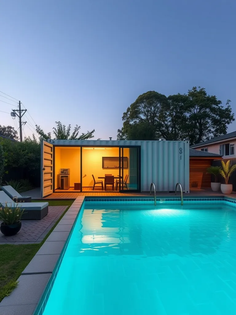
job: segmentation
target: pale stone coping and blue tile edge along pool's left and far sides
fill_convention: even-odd
[[[180,200],[179,196],[158,196],[160,201],[175,201]],[[185,201],[228,201],[236,203],[235,197],[228,196],[193,196],[185,197]],[[64,252],[73,231],[74,222],[80,212],[84,201],[153,201],[153,196],[140,198],[140,196],[127,198],[126,197],[77,197],[74,203],[70,206],[66,214],[59,221],[53,232],[48,236],[36,255],[30,261],[28,266],[23,270],[18,278],[18,286],[12,291],[9,296],[4,297],[0,303],[1,315],[42,315],[51,288],[59,270],[60,262],[62,261]]]

